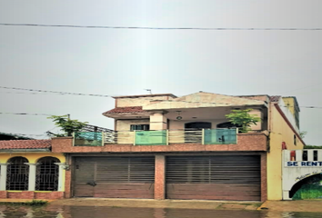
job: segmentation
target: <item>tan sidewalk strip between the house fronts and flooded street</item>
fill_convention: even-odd
[[[0,199],[0,203],[23,203],[31,199]],[[251,210],[269,212],[320,212],[322,199],[300,201],[226,202],[204,200],[153,200],[116,198],[71,198],[48,200],[50,205],[107,206],[107,207],[145,207],[207,210]]]

